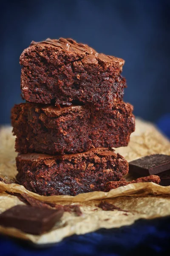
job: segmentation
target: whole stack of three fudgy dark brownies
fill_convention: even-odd
[[[133,107],[122,101],[124,61],[68,38],[32,42],[20,56],[26,103],[12,109],[17,180],[40,195],[105,191],[128,172]]]

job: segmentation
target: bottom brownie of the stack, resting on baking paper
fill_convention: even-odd
[[[120,180],[128,172],[127,161],[108,148],[63,156],[19,154],[16,163],[18,182],[40,195],[102,191],[107,182]]]

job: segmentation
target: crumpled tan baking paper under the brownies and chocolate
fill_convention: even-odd
[[[85,234],[100,228],[122,227],[133,224],[140,218],[157,218],[170,215],[170,186],[160,186],[152,182],[132,183],[110,192],[90,192],[75,197],[68,195],[41,196],[26,190],[15,182],[17,173],[14,151],[15,137],[11,127],[0,129],[0,212],[17,204],[25,204],[16,195],[7,192],[26,193],[32,198],[52,204],[78,204],[81,216],[74,212],[64,212],[61,220],[48,233],[35,236],[23,233],[15,228],[0,226],[0,233],[35,244],[51,244],[59,242],[73,234]],[[127,161],[132,161],[148,154],[169,154],[170,142],[152,124],[136,119],[136,131],[131,135],[127,147],[116,148]],[[127,180],[133,177],[126,175]],[[120,209],[104,211],[98,207],[104,200]]]

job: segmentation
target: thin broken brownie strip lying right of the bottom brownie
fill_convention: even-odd
[[[116,189],[119,186],[126,186],[126,185],[131,184],[131,183],[154,182],[156,184],[159,184],[160,181],[161,180],[160,180],[159,176],[157,176],[157,175],[150,175],[150,176],[147,176],[147,177],[140,177],[137,180],[132,180],[132,181],[126,181],[125,179],[121,179],[121,180],[118,180],[118,181],[109,181],[109,182],[106,183],[105,192],[108,192],[111,189]]]

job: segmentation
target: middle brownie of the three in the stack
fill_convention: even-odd
[[[79,153],[97,147],[127,146],[135,128],[132,106],[115,102],[111,110],[92,106],[22,103],[12,109],[15,148],[19,153]]]

